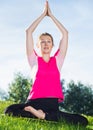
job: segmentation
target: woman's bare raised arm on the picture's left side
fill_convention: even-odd
[[[32,34],[36,29],[36,27],[38,26],[38,24],[41,22],[41,20],[46,16],[46,14],[47,14],[47,3],[45,5],[44,12],[26,30],[26,52],[28,56],[30,56],[34,50],[34,41]]]

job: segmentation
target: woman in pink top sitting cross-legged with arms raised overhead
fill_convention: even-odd
[[[49,33],[43,33],[38,40],[38,47],[42,56],[34,50],[33,32],[45,17],[49,16],[61,33],[59,48],[54,56],[50,57],[54,42]],[[73,123],[87,124],[87,119],[77,115],[60,112],[58,102],[62,102],[64,95],[60,84],[60,70],[62,68],[68,46],[68,31],[54,17],[46,1],[43,13],[26,30],[26,50],[28,62],[35,68],[34,83],[25,104],[13,104],[5,113],[13,116],[31,117],[58,121],[65,119]],[[76,120],[75,120],[76,119]]]

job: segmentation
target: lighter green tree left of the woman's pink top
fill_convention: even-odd
[[[15,74],[14,80],[9,84],[9,100],[24,103],[31,86],[32,80],[25,78],[21,73]]]

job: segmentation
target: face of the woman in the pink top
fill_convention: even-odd
[[[39,46],[42,54],[50,54],[53,47],[51,37],[48,35],[41,36],[39,39]]]

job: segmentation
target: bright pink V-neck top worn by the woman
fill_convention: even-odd
[[[50,58],[49,62],[45,62],[42,57],[36,56],[38,70],[28,99],[58,98],[60,101],[63,100],[64,95],[60,84],[60,72],[56,63],[58,54],[59,51]],[[63,62],[63,59],[61,61]]]

